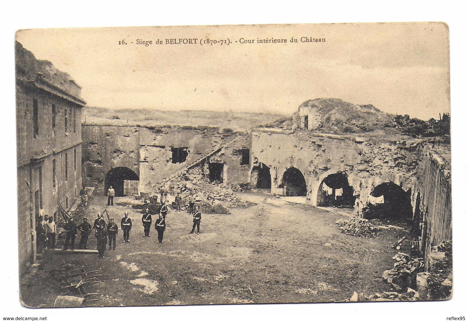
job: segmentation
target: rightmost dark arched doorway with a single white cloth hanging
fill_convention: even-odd
[[[411,190],[405,191],[394,182],[377,185],[371,192],[367,206],[363,209],[365,218],[410,219]]]

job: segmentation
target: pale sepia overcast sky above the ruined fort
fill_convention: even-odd
[[[136,45],[171,38],[197,44]],[[202,46],[200,38],[231,44]],[[90,106],[291,114],[308,99],[333,97],[424,120],[450,111],[441,23],[31,29],[17,40],[70,73]]]

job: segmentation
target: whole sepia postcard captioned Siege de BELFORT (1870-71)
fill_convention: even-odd
[[[441,22],[16,34],[29,307],[452,297]]]

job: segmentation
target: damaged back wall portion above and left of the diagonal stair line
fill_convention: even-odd
[[[105,192],[106,175],[119,167],[129,168],[138,175],[140,192],[150,191],[151,184],[237,135],[231,130],[207,126],[83,124],[82,127],[83,181],[86,186],[97,187],[97,193]]]

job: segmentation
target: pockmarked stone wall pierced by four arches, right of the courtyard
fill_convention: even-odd
[[[253,131],[252,157],[271,167],[271,192],[284,195],[279,185],[287,168],[300,170],[307,183],[307,202],[316,206],[325,177],[345,172],[355,195],[365,204],[381,182],[395,182],[408,191],[415,183],[417,157],[409,144],[305,131]]]

